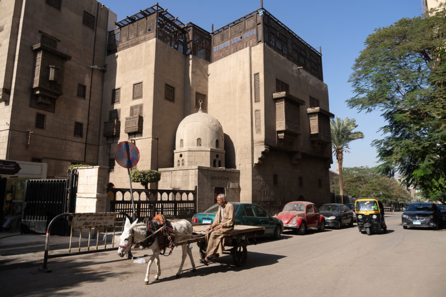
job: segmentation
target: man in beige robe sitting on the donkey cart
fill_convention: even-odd
[[[212,259],[219,257],[220,254],[223,253],[224,236],[231,234],[234,229],[234,206],[226,201],[226,196],[224,194],[219,194],[217,196],[217,203],[219,203],[220,206],[217,210],[214,222],[208,229],[206,229],[206,241],[208,243],[206,257],[200,259],[200,262],[205,265],[208,265],[209,261],[212,261]]]

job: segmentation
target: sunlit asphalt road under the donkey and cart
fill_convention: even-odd
[[[401,213],[386,215],[388,233],[372,236],[356,228],[285,231],[279,241],[258,240],[248,259],[235,267],[230,255],[218,263],[199,262],[192,251],[180,278],[181,249],[161,256],[162,274],[144,285],[147,264],[119,258],[115,251],[50,259],[51,273],[38,271],[42,253],[3,259],[1,296],[426,296],[446,295],[446,229],[404,230]],[[135,256],[150,250],[134,251]],[[38,257],[40,256],[40,258]],[[148,257],[146,257],[147,259]]]

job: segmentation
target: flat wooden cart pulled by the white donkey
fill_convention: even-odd
[[[210,224],[194,225],[194,233],[198,235],[202,234],[203,237],[177,242],[175,243],[175,246],[197,243],[197,246],[200,248],[200,256],[205,258],[207,242],[204,235],[206,234],[206,229],[209,227],[209,225]],[[243,266],[248,257],[248,250],[246,248],[248,245],[248,239],[255,237],[256,235],[261,235],[264,232],[265,227],[235,225],[231,234],[224,237],[223,253],[232,255],[235,265]]]

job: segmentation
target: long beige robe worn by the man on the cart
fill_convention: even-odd
[[[222,225],[222,229],[218,229],[208,233],[206,235],[206,240],[208,242],[208,247],[206,248],[206,256],[212,254],[223,253],[223,237],[224,235],[231,234],[234,229],[235,213],[234,206],[227,203],[223,207],[223,218],[222,218],[222,206],[219,206],[217,214],[215,216],[212,226]]]

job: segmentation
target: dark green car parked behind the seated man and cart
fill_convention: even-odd
[[[283,223],[280,219],[271,216],[260,205],[252,203],[229,202],[234,205],[235,225],[248,225],[265,227],[264,236],[272,236],[279,239],[283,231]],[[206,224],[214,221],[219,204],[214,204],[203,213],[196,213],[192,217],[192,224]]]

